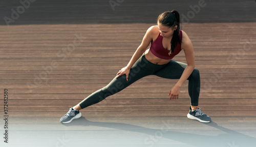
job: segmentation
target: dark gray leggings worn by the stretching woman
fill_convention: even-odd
[[[138,79],[148,75],[156,75],[168,79],[179,79],[186,66],[187,65],[184,63],[175,61],[170,61],[165,65],[157,65],[147,61],[145,55],[142,55],[131,68],[128,81],[126,80],[126,75],[114,78],[108,85],[81,101],[79,105],[83,109],[96,104],[106,97],[120,92]],[[199,70],[195,68],[188,77],[188,94],[192,106],[198,106],[199,93],[200,74]]]

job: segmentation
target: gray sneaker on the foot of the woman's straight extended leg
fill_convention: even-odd
[[[79,119],[81,115],[82,114],[79,111],[70,108],[68,113],[66,113],[64,116],[60,118],[59,122],[64,124],[70,123],[75,119]]]

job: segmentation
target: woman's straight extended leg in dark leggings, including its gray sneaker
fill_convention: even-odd
[[[144,55],[141,56],[131,68],[128,80],[126,80],[126,75],[122,75],[118,78],[115,77],[108,85],[92,93],[90,96],[82,100],[79,104],[70,108],[70,111],[66,115],[61,117],[60,122],[70,123],[72,120],[78,119],[81,116],[79,112],[80,109],[96,104],[105,99],[106,97],[120,92],[121,90],[125,89],[125,87],[131,85],[138,79],[147,75],[151,75],[152,69],[154,68],[152,68],[151,65],[148,63],[149,62],[145,59]]]

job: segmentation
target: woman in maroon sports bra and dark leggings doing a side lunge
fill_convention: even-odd
[[[151,44],[150,49],[147,49]],[[146,50],[147,49],[147,50]],[[184,50],[187,64],[172,61],[172,58]],[[198,107],[200,93],[200,74],[195,69],[193,45],[184,31],[180,30],[180,16],[175,10],[159,15],[157,25],[151,26],[133,54],[126,67],[119,70],[117,76],[105,87],[94,92],[61,117],[61,123],[70,123],[81,117],[80,109],[98,103],[108,96],[120,92],[138,79],[147,75],[157,75],[168,79],[179,79],[169,91],[170,100],[178,99],[180,87],[188,82],[190,110],[188,119],[203,123],[211,121]]]

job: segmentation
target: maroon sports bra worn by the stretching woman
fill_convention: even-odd
[[[180,40],[182,41],[182,31],[180,30]],[[181,44],[177,43],[174,52],[169,55],[169,50],[163,47],[163,37],[158,35],[155,41],[151,41],[150,51],[157,57],[170,60],[181,51]]]

